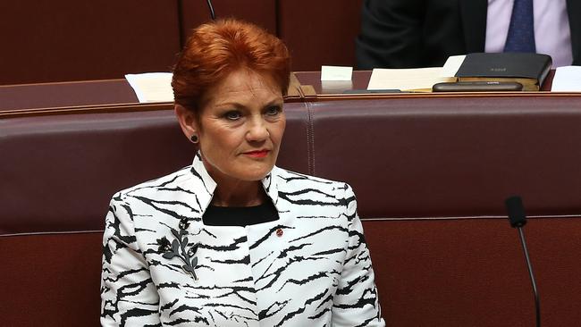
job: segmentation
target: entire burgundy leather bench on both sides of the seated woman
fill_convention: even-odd
[[[503,200],[520,194],[543,325],[581,320],[579,96],[285,105],[279,165],[348,181],[389,325],[532,325]],[[97,325],[114,191],[189,164],[170,110],[0,120],[5,325]]]

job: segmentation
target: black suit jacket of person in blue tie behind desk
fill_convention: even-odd
[[[358,69],[442,66],[484,52],[487,0],[365,0]],[[567,0],[573,64],[581,64],[581,1]]]

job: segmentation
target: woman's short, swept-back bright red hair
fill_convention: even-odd
[[[175,103],[198,111],[207,90],[240,69],[272,77],[282,95],[287,94],[290,55],[279,38],[257,25],[234,19],[200,25],[173,67]]]

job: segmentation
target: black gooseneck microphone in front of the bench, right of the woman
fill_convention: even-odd
[[[531,264],[531,260],[528,257],[525,232],[523,231],[523,226],[526,224],[526,214],[525,207],[523,206],[523,200],[518,196],[509,197],[504,201],[504,204],[506,205],[507,211],[509,213],[510,226],[518,229],[520,243],[522,244],[523,251],[525,252],[528,275],[531,278],[531,283],[533,284],[533,293],[535,295],[536,327],[541,327],[541,303],[539,301],[539,293],[536,290],[535,273],[533,272],[533,265]]]

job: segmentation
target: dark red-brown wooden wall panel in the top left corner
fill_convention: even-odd
[[[180,50],[176,1],[3,1],[0,84],[168,71]]]

